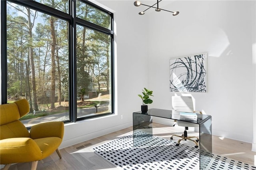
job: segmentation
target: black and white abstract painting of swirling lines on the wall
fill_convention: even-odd
[[[170,91],[206,92],[207,53],[170,59]]]

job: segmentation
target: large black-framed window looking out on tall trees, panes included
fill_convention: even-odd
[[[111,12],[82,0],[1,3],[2,104],[27,99],[26,127],[114,112]]]

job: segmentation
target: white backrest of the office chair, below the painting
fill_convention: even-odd
[[[191,96],[172,96],[172,108],[180,112],[194,112],[194,103]]]

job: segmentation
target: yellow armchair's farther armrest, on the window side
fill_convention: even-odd
[[[30,129],[30,137],[32,139],[59,137],[63,138],[64,123],[63,122],[45,122],[34,125]]]

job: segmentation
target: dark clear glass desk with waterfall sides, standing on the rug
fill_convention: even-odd
[[[141,111],[133,113],[133,146],[140,146],[152,138],[152,119],[161,117],[166,119],[195,123],[199,125],[200,169],[205,169],[212,157],[212,117],[197,114],[197,121],[188,121],[172,118],[171,110],[148,109],[147,113]],[[136,133],[140,131],[140,133]],[[179,146],[176,146],[179,147]]]

